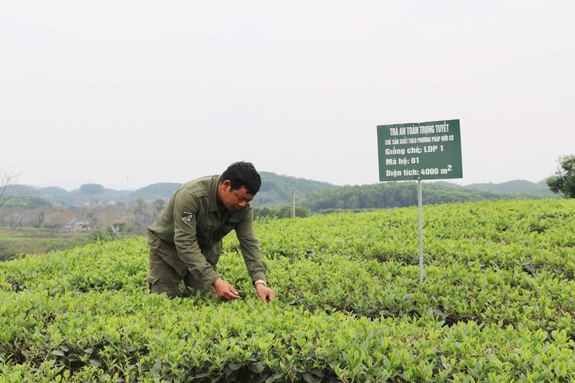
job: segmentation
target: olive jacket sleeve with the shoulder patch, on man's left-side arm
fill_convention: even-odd
[[[204,197],[199,197],[204,198]],[[181,190],[174,200],[174,244],[192,276],[204,286],[211,285],[220,276],[201,253],[197,240],[197,214],[199,198],[189,190]]]

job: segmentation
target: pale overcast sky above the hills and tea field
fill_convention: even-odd
[[[4,1],[0,171],[373,184],[377,125],[459,119],[452,182],[538,182],[575,154],[574,20],[572,0]]]

